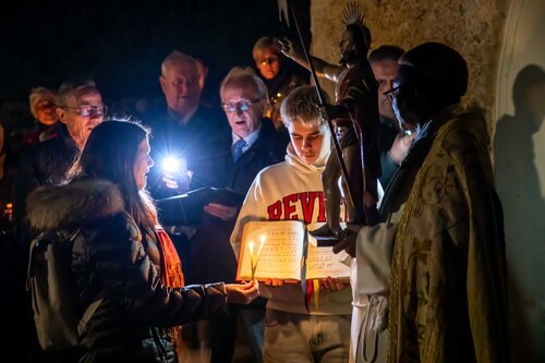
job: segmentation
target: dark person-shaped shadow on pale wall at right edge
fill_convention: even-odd
[[[513,361],[534,362],[543,340],[529,338],[545,338],[545,201],[533,142],[545,117],[543,69],[524,66],[512,93],[514,116],[502,116],[496,125],[495,176],[505,213]]]

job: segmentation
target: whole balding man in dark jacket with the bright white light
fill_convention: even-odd
[[[202,186],[223,186],[225,172],[219,172],[217,164],[225,153],[228,128],[219,108],[215,111],[199,105],[198,81],[194,58],[174,50],[162,61],[159,83],[167,112],[149,122],[156,164],[148,174],[148,190],[157,201]],[[159,202],[159,217],[174,242],[189,283],[193,281],[191,238],[203,213],[193,209]]]

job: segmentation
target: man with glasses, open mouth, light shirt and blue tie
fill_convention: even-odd
[[[221,107],[226,112],[231,137],[217,158],[217,173],[222,186],[242,197],[256,174],[265,167],[279,162],[286,155],[289,136],[278,134],[270,119],[263,118],[267,105],[267,87],[251,69],[232,69],[220,86]],[[281,129],[280,132],[286,132]],[[193,283],[206,283],[218,278],[234,281],[237,261],[230,245],[230,234],[239,209],[219,203],[204,207],[204,216],[192,239],[191,269]],[[264,303],[253,308],[264,312]],[[199,322],[201,341],[211,346],[213,362],[230,362],[235,338],[235,312],[232,310],[211,319]],[[203,335],[202,331],[207,331]],[[255,340],[250,341],[255,346]],[[254,350],[261,354],[259,349]],[[257,359],[257,358],[256,358]]]

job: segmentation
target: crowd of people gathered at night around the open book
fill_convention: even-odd
[[[508,361],[501,205],[486,122],[460,106],[465,61],[437,43],[367,53],[364,31],[346,24],[340,66],[311,60],[338,85],[328,110],[351,185],[331,172],[339,135],[287,66],[308,66],[287,39],[259,38],[220,105],[202,101],[203,62],[173,50],[154,119],[110,117],[93,80],[33,88],[25,146],[0,128],[2,311],[27,347],[19,361],[59,360],[40,352],[23,291],[48,230],[75,235],[81,304],[104,294],[70,351],[80,362]],[[207,187],[216,199],[178,198]],[[278,201],[289,208],[272,218]],[[291,218],[348,222],[326,249],[347,255],[350,281],[318,281],[319,306],[280,279],[235,280],[244,223]]]

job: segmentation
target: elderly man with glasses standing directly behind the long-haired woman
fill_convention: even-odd
[[[39,185],[60,184],[85,145],[90,131],[104,121],[107,107],[92,80],[70,80],[57,94],[56,113],[63,126],[56,137],[35,144],[20,156],[13,191],[14,234],[29,243],[32,232],[25,221],[27,195]]]

